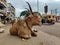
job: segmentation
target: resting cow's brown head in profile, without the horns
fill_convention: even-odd
[[[26,17],[26,22],[32,26],[39,25],[40,26],[40,16],[36,14],[31,14],[28,17]]]

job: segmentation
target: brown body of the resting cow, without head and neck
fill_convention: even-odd
[[[18,20],[18,22],[14,23],[10,29],[11,35],[18,35],[19,37],[23,38],[30,38],[31,37],[31,31],[24,26],[24,20]]]

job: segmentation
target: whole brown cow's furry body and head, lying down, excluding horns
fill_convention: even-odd
[[[31,34],[37,35],[34,31],[31,30],[32,26],[40,25],[40,19],[37,15],[29,15],[25,20],[18,20],[14,23],[10,29],[11,35],[18,35],[23,38],[30,38]],[[27,23],[26,23],[27,22]],[[24,23],[28,24],[28,26],[24,26]],[[30,28],[30,29],[29,29]]]

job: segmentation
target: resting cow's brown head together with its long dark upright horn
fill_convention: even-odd
[[[29,23],[31,26],[40,25],[41,17],[39,15],[33,13],[29,2],[26,2],[26,3],[28,4],[29,10],[30,10],[30,15],[26,18],[27,23]]]

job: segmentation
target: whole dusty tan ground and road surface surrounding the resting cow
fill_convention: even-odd
[[[60,45],[60,23],[35,27],[38,36],[28,40],[10,35],[10,27],[11,25],[6,25],[4,33],[0,33],[0,45]]]

